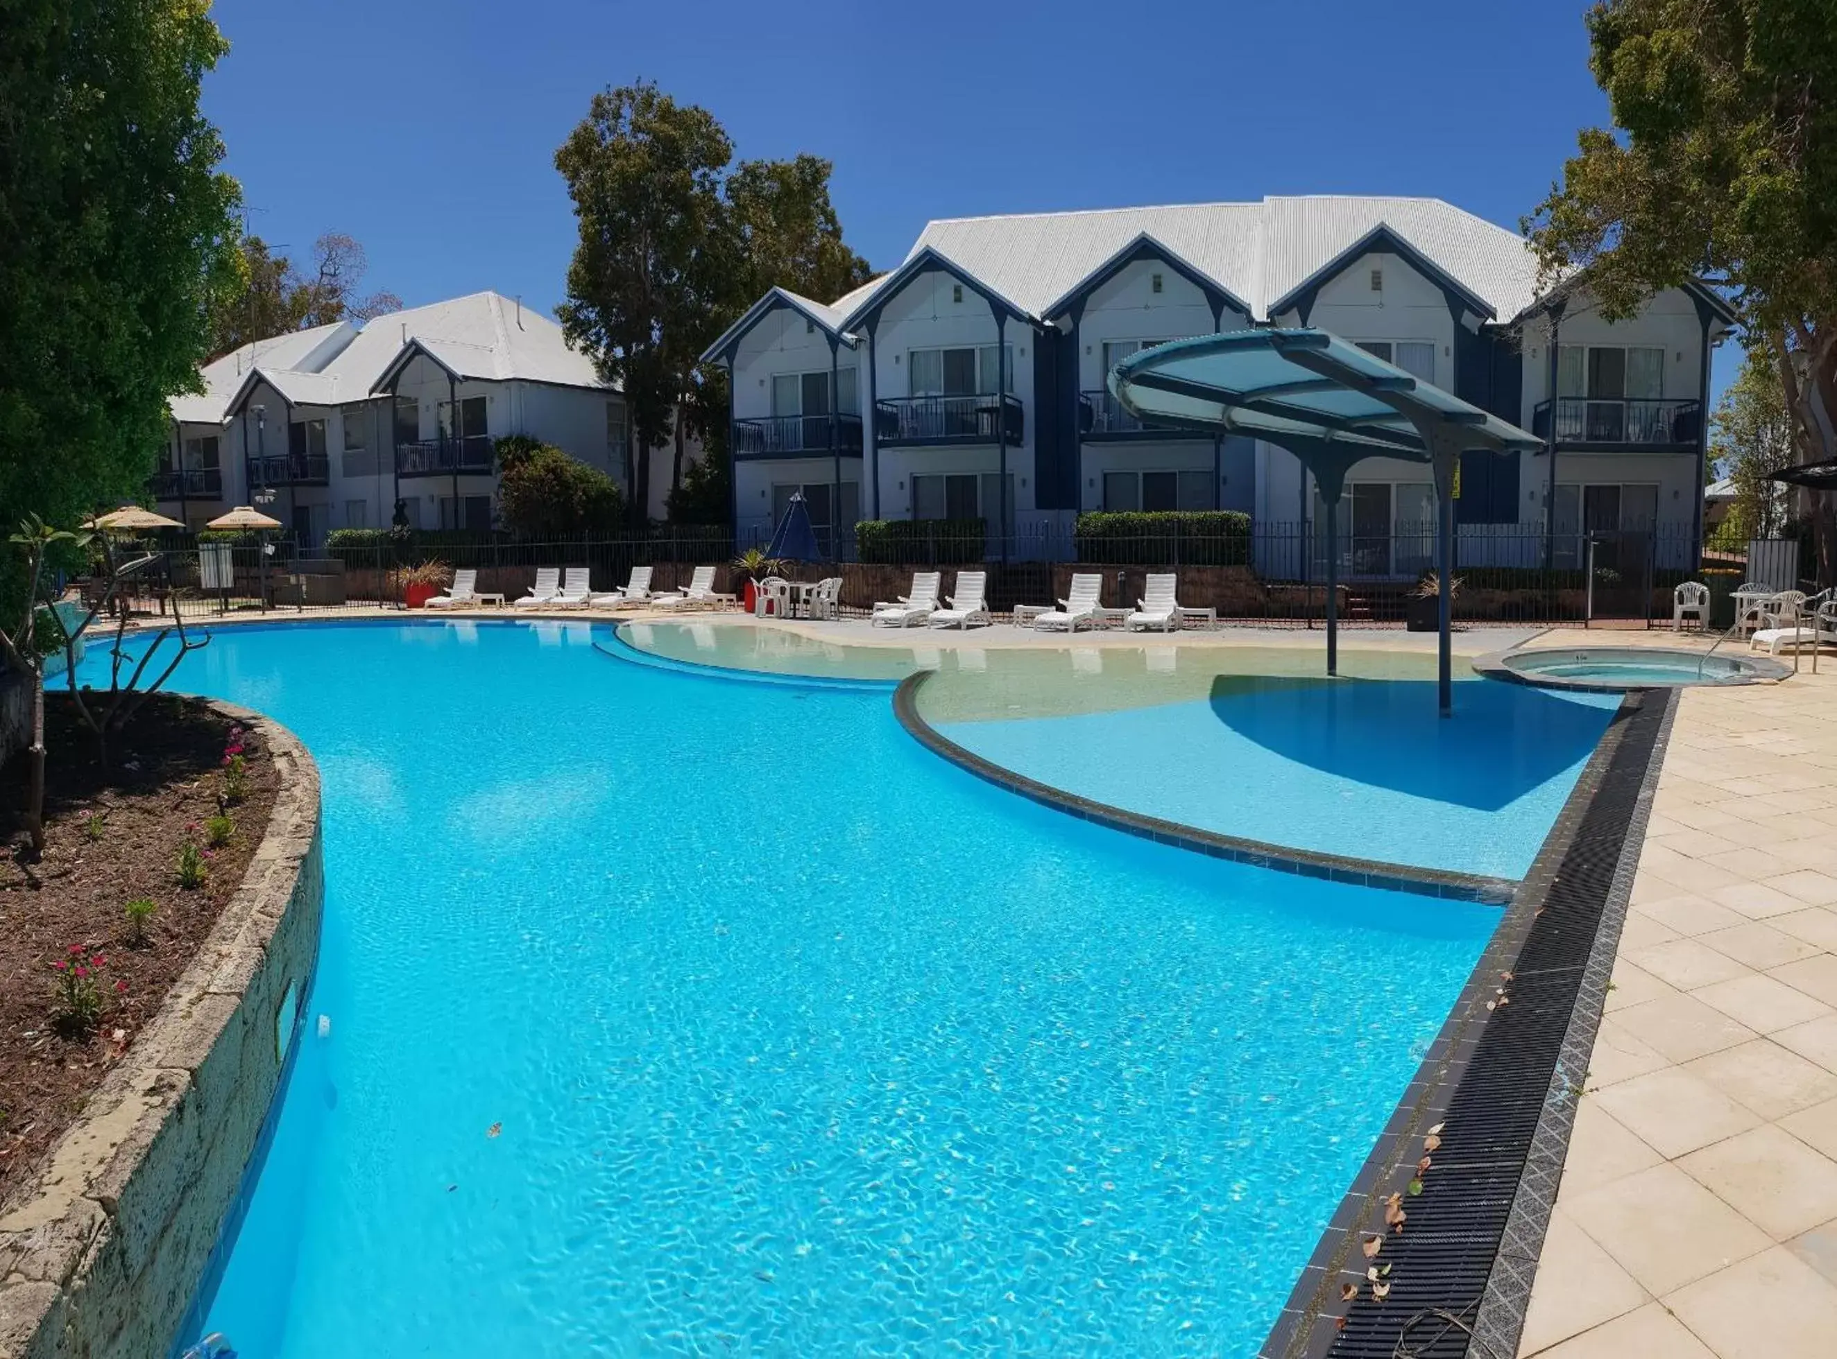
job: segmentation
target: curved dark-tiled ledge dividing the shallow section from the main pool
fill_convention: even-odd
[[[1018,793],[1032,803],[1065,812],[1080,821],[1091,821],[1110,830],[1152,839],[1157,845],[1205,854],[1214,859],[1231,859],[1257,869],[1275,869],[1293,872],[1301,878],[1324,878],[1358,887],[1376,887],[1392,893],[1416,893],[1424,896],[1442,896],[1460,902],[1488,902],[1506,905],[1514,900],[1519,885],[1506,878],[1484,878],[1468,872],[1446,872],[1442,869],[1414,869],[1403,863],[1385,863],[1381,859],[1354,859],[1341,854],[1317,854],[1313,850],[1269,845],[1258,839],[1222,836],[1216,830],[1183,826],[1176,821],[1130,812],[1110,803],[1095,803],[1076,793],[1067,793],[1051,784],[1043,784],[1027,775],[1005,769],[985,760],[975,751],[959,746],[950,736],[924,720],[918,713],[918,691],[931,678],[931,670],[918,670],[906,676],[893,691],[893,714],[920,746],[933,755],[950,760],[957,768],[974,773],[977,779],[996,784],[1010,793]]]

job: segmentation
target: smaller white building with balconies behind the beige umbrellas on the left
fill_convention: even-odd
[[[560,327],[496,292],[281,334],[171,402],[160,509],[198,527],[259,503],[307,547],[331,529],[489,529],[492,444],[527,433],[626,485],[625,400]],[[669,463],[652,450],[652,514]]]

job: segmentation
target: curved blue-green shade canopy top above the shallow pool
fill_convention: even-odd
[[[1356,457],[1536,450],[1543,441],[1326,331],[1233,331],[1130,354],[1110,391],[1146,421]]]

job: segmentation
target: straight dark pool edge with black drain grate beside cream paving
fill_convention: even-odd
[[[1295,1282],[1264,1359],[1391,1359],[1405,1339],[1411,1355],[1455,1357],[1470,1353],[1468,1328],[1484,1337],[1475,1355],[1517,1352],[1674,709],[1672,691],[1622,702]],[[1501,992],[1508,1005],[1488,1010]],[[1403,1199],[1403,1234],[1387,1234],[1376,1260],[1391,1265],[1391,1295],[1376,1302],[1359,1243],[1381,1229],[1385,1196],[1405,1192],[1424,1135],[1444,1122],[1424,1194]],[[1363,1286],[1352,1304],[1341,1300],[1348,1282]]]

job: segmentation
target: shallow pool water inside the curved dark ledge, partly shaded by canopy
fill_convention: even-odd
[[[1203,700],[937,727],[996,764],[1132,812],[1523,878],[1618,703],[1477,680],[1455,685],[1455,713],[1442,718],[1433,680],[1223,674]]]

